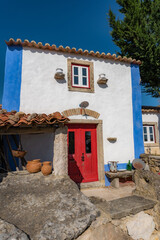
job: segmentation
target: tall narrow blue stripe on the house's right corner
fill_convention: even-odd
[[[131,64],[134,155],[144,153],[139,66]]]

